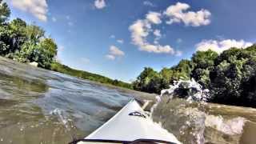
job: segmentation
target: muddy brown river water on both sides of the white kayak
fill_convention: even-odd
[[[152,95],[99,85],[0,57],[0,143],[67,143],[84,138],[131,97]],[[256,110],[162,100],[155,122],[184,143],[256,143]]]

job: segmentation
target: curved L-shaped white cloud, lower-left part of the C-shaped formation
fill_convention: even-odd
[[[131,32],[131,38],[134,45],[139,47],[139,50],[153,52],[153,53],[166,53],[174,54],[174,49],[171,46],[161,46],[156,44],[150,44],[146,41],[146,37],[150,34],[151,24],[148,20],[137,20],[129,27]]]

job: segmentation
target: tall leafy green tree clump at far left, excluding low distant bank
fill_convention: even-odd
[[[8,22],[10,9],[0,0],[0,55],[18,62],[38,62],[42,68],[50,68],[57,54],[57,45],[46,38],[39,26],[28,25],[20,18]]]

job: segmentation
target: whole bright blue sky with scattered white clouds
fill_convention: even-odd
[[[221,53],[256,38],[254,0],[7,0],[12,18],[58,43],[58,59],[126,82],[174,66],[196,50]]]

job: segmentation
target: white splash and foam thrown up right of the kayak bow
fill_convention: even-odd
[[[179,90],[186,90],[186,95],[179,95]],[[169,130],[178,130],[178,133],[175,133],[175,131],[170,132],[175,133],[185,143],[205,143],[204,133],[206,127],[228,135],[242,134],[246,118],[225,119],[222,116],[214,116],[206,113],[205,106],[207,105],[207,99],[210,98],[209,92],[207,89],[203,90],[202,86],[198,82],[195,82],[194,79],[174,82],[173,85],[170,85],[169,89],[161,90],[161,94],[156,96],[156,103],[151,108],[151,118],[153,118],[153,115],[158,115],[158,121],[165,122],[165,118],[172,118],[174,123],[179,122],[177,125],[170,123],[166,124],[166,126],[171,126]],[[186,102],[175,103],[174,98],[185,98]],[[171,103],[171,101],[174,103]],[[170,113],[168,116],[154,114],[155,110],[158,112],[159,110],[165,110],[164,105],[170,105],[169,107],[166,106],[166,108],[168,107],[170,109],[169,112],[168,110],[161,112],[162,114]],[[179,127],[177,128],[177,126]]]

